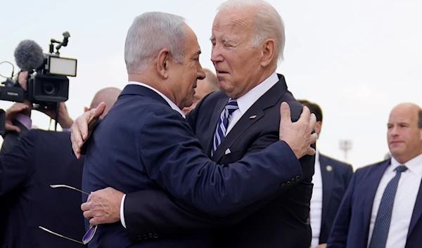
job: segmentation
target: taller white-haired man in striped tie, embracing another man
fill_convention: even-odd
[[[277,63],[283,58],[285,35],[281,17],[273,6],[265,1],[226,1],[215,16],[210,40],[220,91],[205,96],[186,119],[205,154],[213,162],[224,164],[223,168],[237,170],[241,167],[235,168],[232,163],[259,154],[278,142],[279,121],[286,119],[279,111],[286,104],[282,103],[290,106],[293,121],[299,119],[302,105],[288,91],[283,75],[276,73]],[[303,109],[308,111],[307,107]],[[79,117],[73,126],[76,153],[82,139],[87,137],[87,122],[91,123],[94,117]],[[287,155],[285,151],[280,154]],[[204,212],[182,197],[160,190],[139,190],[124,195],[111,188],[94,192],[91,202],[82,204],[82,209],[93,224],[120,219],[133,240],[184,237],[181,233],[208,230],[209,236],[200,237],[202,244],[197,247],[212,244],[213,247],[308,248],[314,159],[313,153],[300,158],[302,177],[281,183],[277,192],[261,191],[265,195],[262,200],[249,202],[233,214],[226,207]],[[264,160],[259,164],[274,165]],[[253,169],[256,168],[248,167],[243,176],[255,176],[255,187],[261,188],[269,178],[257,177],[250,171]],[[229,181],[237,180],[234,174],[224,171],[221,174]],[[121,195],[125,200],[120,204]],[[236,201],[242,203],[241,199]]]

